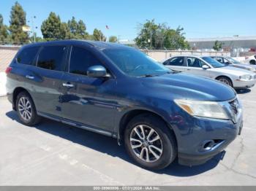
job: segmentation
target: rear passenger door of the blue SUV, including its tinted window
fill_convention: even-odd
[[[67,46],[43,46],[37,66],[28,67],[26,88],[31,92],[39,114],[61,116],[60,86],[67,59]]]

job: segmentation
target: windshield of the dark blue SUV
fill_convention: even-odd
[[[170,72],[170,69],[138,50],[106,49],[103,52],[121,71],[132,77],[151,77]]]

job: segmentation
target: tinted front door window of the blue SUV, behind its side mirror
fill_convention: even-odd
[[[90,66],[101,66],[99,62],[91,52],[85,50],[82,47],[72,47],[69,72],[73,74],[86,75],[86,71]]]

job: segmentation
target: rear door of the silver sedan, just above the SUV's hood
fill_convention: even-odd
[[[187,63],[185,63],[184,56],[170,58],[163,64],[174,71],[186,71],[187,69]]]

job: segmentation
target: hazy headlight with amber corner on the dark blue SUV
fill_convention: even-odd
[[[222,120],[230,119],[216,101],[193,101],[193,100],[175,100],[175,103],[192,116],[209,117]]]

